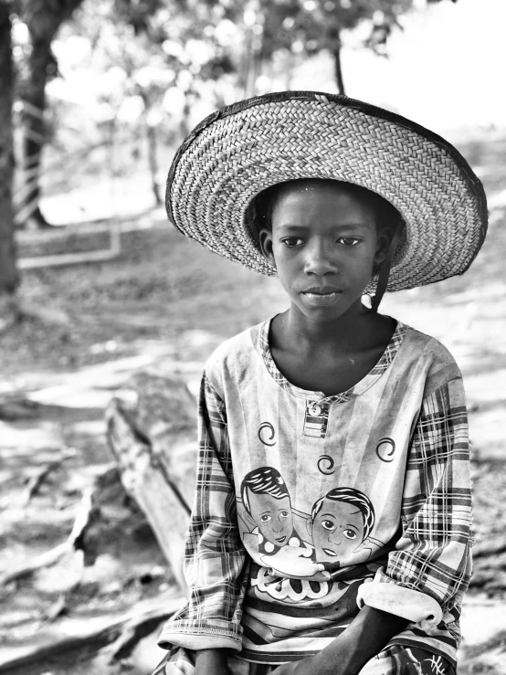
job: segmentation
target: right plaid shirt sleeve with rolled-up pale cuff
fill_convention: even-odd
[[[378,608],[412,621],[432,617],[437,624],[469,585],[471,517],[468,417],[459,377],[423,401],[406,465],[403,535],[374,579],[396,587],[389,607]],[[388,595],[375,584],[364,593]],[[364,598],[377,606],[375,600]]]

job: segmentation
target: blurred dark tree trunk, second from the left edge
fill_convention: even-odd
[[[32,38],[29,58],[29,78],[23,92],[23,171],[24,194],[20,201],[17,221],[26,225],[33,221],[37,227],[50,227],[39,208],[40,160],[44,148],[47,67],[51,63],[51,37]]]

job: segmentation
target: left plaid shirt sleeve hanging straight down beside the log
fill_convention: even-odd
[[[204,374],[195,501],[184,554],[189,597],[165,624],[161,647],[241,649],[245,559],[237,528],[227,411]]]

